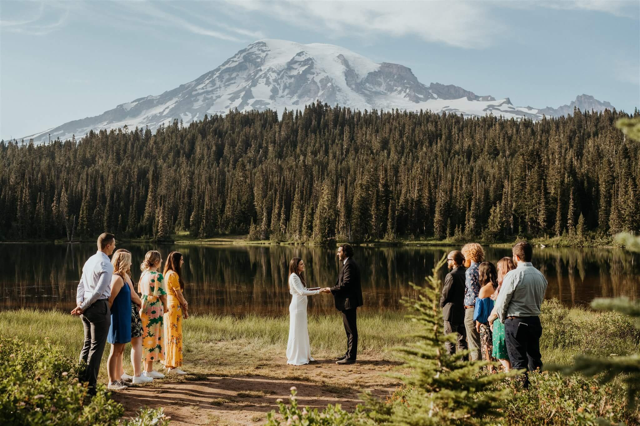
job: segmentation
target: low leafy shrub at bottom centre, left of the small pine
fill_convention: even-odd
[[[298,397],[296,397],[297,390],[295,387],[291,388],[291,406],[287,406],[282,399],[278,399],[278,409],[282,419],[276,418],[275,411],[271,411],[267,415],[268,426],[281,426],[281,425],[305,425],[305,426],[353,426],[362,424],[362,420],[359,420],[362,414],[362,408],[358,406],[353,415],[348,411],[343,410],[340,404],[333,406],[329,404],[323,411],[318,411],[317,408],[309,409],[309,407],[298,406]]]

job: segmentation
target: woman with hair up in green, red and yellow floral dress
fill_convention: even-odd
[[[164,360],[163,314],[166,310],[166,290],[163,275],[158,268],[162,264],[162,256],[156,250],[145,255],[140,265],[142,275],[138,282],[138,291],[142,293],[140,319],[142,320],[142,351],[145,361],[145,377],[162,379],[164,374],[154,370],[154,361]]]

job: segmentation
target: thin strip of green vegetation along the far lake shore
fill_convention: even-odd
[[[116,236],[117,238],[118,236]],[[483,246],[488,247],[513,247],[518,238],[502,241],[484,241],[482,239],[474,240]],[[196,238],[189,235],[188,232],[177,232],[171,238],[166,240],[154,240],[145,238],[119,238],[122,243],[161,243],[161,244],[201,244],[201,245],[303,245],[303,246],[326,246],[339,245],[348,241],[331,240],[326,243],[313,243],[310,241],[285,241],[285,240],[250,240],[248,234],[239,235],[220,235],[210,238]],[[543,237],[532,238],[528,240],[534,247],[566,247],[566,248],[623,248],[625,244],[618,241],[615,237],[593,237],[579,238],[578,236],[559,236],[559,237]],[[456,238],[448,238],[438,240],[436,238],[397,238],[396,240],[376,240],[361,243],[351,243],[351,245],[363,247],[446,247],[452,245],[463,245],[468,242],[466,239],[458,240]],[[76,244],[76,243],[95,243],[93,240],[80,239],[77,241],[65,240],[24,240],[24,241],[0,241],[0,244],[18,244],[18,243],[56,243],[56,244]]]

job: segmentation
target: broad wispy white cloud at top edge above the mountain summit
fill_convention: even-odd
[[[240,1],[230,5],[333,36],[419,36],[463,48],[483,48],[504,30],[483,2]]]

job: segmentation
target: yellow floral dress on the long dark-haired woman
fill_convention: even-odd
[[[166,277],[167,307],[164,314],[164,365],[180,367],[182,365],[182,306],[175,291],[180,290],[178,274],[170,271]]]

